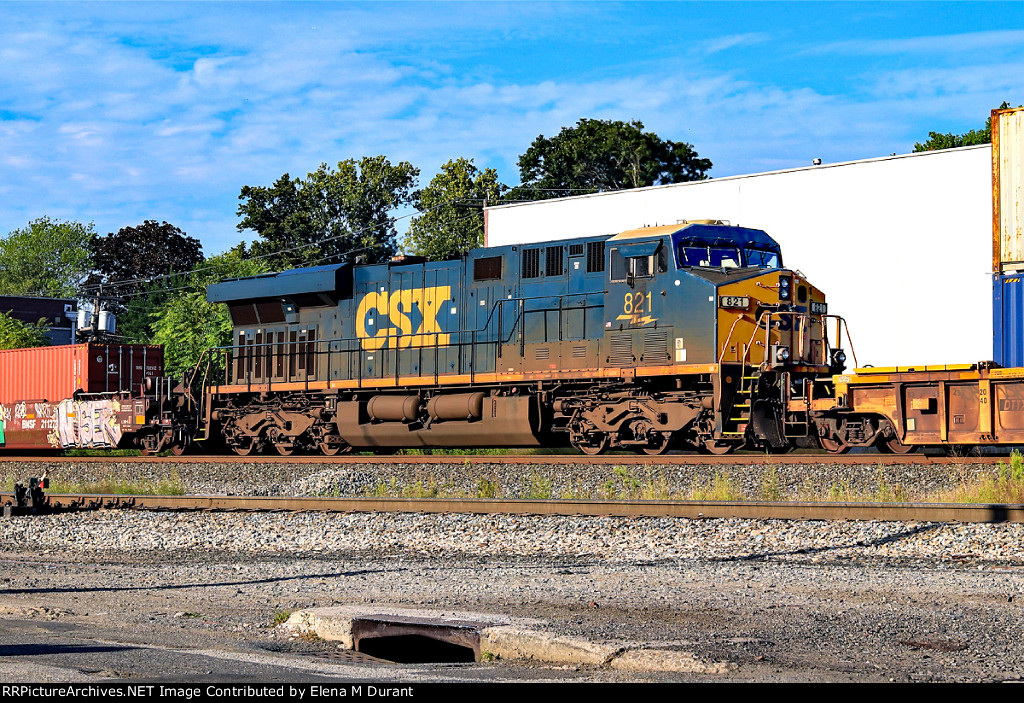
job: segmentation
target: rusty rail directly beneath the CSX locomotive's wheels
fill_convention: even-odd
[[[706,454],[665,454],[662,456],[646,456],[637,454],[607,454],[602,456],[586,456],[583,454],[399,454],[399,455],[366,455],[319,456],[293,455],[280,456],[238,456],[236,454],[185,454],[182,456],[52,456],[23,455],[3,456],[0,462],[13,464],[53,464],[55,462],[70,464],[331,464],[338,466],[359,465],[410,465],[410,464],[516,464],[523,466],[572,466],[580,464],[596,466],[780,466],[794,464],[833,464],[833,465],[867,465],[867,466],[941,466],[964,464],[997,464],[1009,462],[1007,456],[929,456],[927,454],[761,454],[735,453],[726,456]]]

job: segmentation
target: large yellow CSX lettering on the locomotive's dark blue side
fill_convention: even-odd
[[[450,335],[441,332],[437,313],[449,299],[452,288],[414,289],[392,293],[368,293],[355,311],[355,332],[367,351],[386,346],[443,346]]]

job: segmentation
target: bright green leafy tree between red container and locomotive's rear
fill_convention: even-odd
[[[175,281],[175,288],[183,285],[184,290],[154,313],[153,342],[164,345],[164,368],[169,376],[183,375],[199,363],[206,350],[230,345],[231,318],[227,306],[208,303],[206,287],[224,278],[266,273],[265,263],[247,256],[243,244],[210,257],[183,281]],[[215,357],[218,360],[219,356]]]

